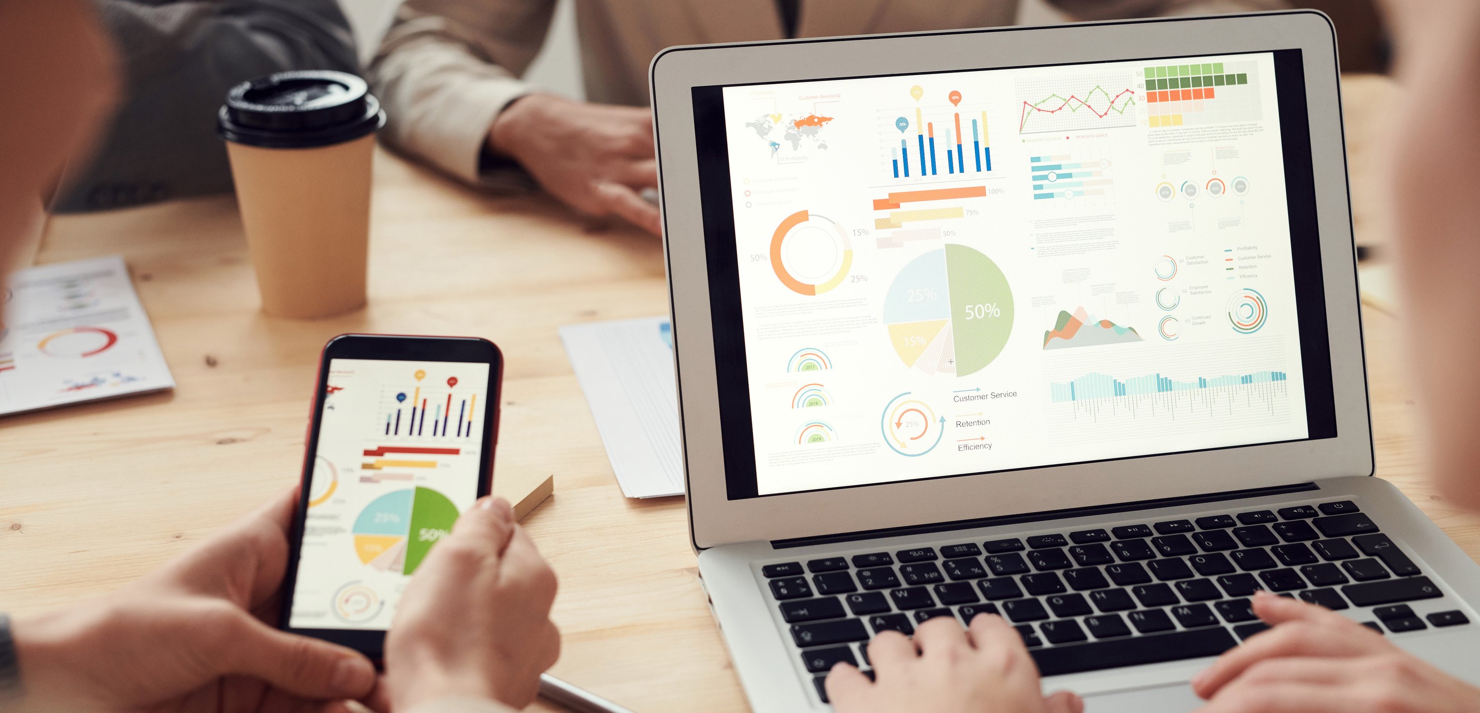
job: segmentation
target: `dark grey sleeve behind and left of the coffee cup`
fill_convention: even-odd
[[[284,70],[354,72],[334,0],[95,0],[121,58],[123,102],[52,206],[105,210],[231,191],[216,109],[226,89]]]

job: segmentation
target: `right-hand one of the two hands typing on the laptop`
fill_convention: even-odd
[[[1323,606],[1258,592],[1254,612],[1273,629],[1193,677],[1199,713],[1480,710],[1480,688]]]

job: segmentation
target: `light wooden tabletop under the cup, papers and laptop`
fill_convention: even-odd
[[[656,238],[591,229],[543,197],[478,195],[380,152],[361,312],[309,322],[258,312],[229,197],[56,217],[38,262],[111,253],[124,254],[179,386],[0,420],[0,611],[115,589],[293,485],[329,337],[475,334],[508,359],[494,490],[555,475],[554,499],[525,521],[561,578],[552,673],[642,712],[746,709],[682,499],[622,497],[556,334],[665,314]],[[1480,518],[1425,478],[1399,317],[1369,308],[1363,321],[1376,472],[1480,555]]]

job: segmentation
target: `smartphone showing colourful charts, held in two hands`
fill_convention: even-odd
[[[502,379],[485,339],[343,334],[324,346],[284,630],[380,660],[411,574],[488,494]]]

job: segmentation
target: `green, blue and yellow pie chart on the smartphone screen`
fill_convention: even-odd
[[[457,506],[435,490],[386,493],[355,518],[355,555],[374,570],[411,574],[456,521]]]

